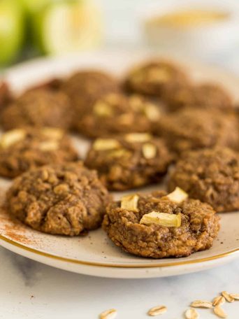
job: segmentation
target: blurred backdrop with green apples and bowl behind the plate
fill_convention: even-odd
[[[0,66],[42,55],[149,49],[239,71],[238,0],[0,0]]]

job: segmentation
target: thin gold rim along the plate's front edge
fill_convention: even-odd
[[[7,237],[3,236],[0,234],[0,239],[2,241],[5,241],[6,243],[10,243],[11,245],[17,247],[17,248],[22,248],[23,250],[27,250],[30,253],[34,253],[36,255],[44,256],[51,258],[53,260],[60,260],[61,262],[70,262],[72,264],[82,264],[86,266],[93,266],[93,267],[105,267],[105,268],[156,268],[156,267],[173,267],[173,266],[180,266],[180,265],[185,265],[185,264],[198,264],[201,262],[209,262],[211,260],[217,260],[219,258],[227,257],[229,255],[232,255],[234,253],[239,252],[239,248],[230,250],[227,253],[221,253],[217,255],[213,255],[210,257],[203,257],[199,258],[198,260],[183,260],[180,262],[165,262],[165,263],[157,263],[157,264],[103,264],[101,262],[85,262],[83,260],[73,260],[71,258],[66,258],[66,257],[61,257],[57,255],[52,255],[50,253],[44,253],[41,250],[37,250],[35,248],[30,248],[27,246],[22,245],[21,243],[17,243],[16,241],[12,241],[11,239],[8,239]]]

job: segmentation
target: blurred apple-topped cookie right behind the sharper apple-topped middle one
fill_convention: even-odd
[[[138,95],[110,93],[96,100],[78,122],[78,132],[94,138],[130,132],[152,132],[161,109]]]

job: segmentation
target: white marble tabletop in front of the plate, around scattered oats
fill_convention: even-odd
[[[184,318],[194,299],[212,299],[222,290],[239,292],[239,260],[197,274],[171,278],[118,280],[71,274],[0,248],[0,318],[94,319],[115,308],[119,319],[149,318],[147,310],[168,306],[164,319]],[[239,302],[224,305],[238,319]],[[211,310],[201,318],[217,318]]]

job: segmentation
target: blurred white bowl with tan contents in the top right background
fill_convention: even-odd
[[[236,46],[238,17],[238,10],[222,1],[180,1],[144,10],[141,22],[151,47],[203,57]]]

